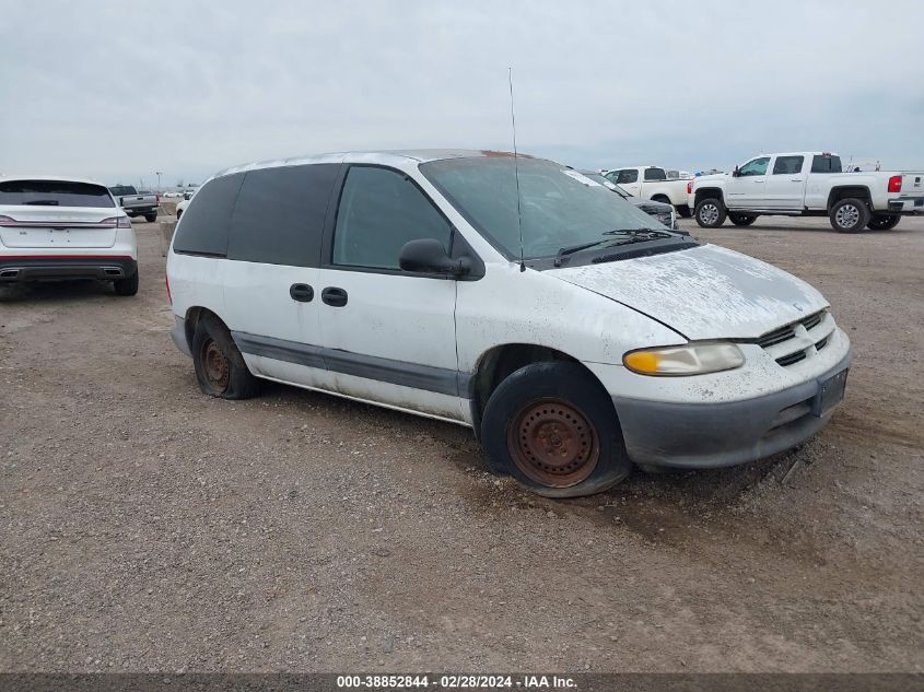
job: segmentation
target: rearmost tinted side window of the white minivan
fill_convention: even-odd
[[[225,175],[210,180],[199,190],[176,226],[174,251],[225,256],[231,210],[243,180],[243,173]]]

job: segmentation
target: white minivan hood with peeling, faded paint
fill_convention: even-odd
[[[690,340],[755,339],[828,307],[805,281],[716,245],[542,273],[628,305]]]

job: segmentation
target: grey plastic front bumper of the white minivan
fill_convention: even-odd
[[[831,419],[812,412],[822,382],[850,367],[852,351],[816,378],[750,399],[666,403],[613,397],[625,449],[636,464],[712,468],[794,447]]]

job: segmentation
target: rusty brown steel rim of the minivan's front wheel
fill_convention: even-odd
[[[550,488],[587,479],[600,458],[597,431],[578,409],[560,399],[524,407],[511,422],[507,446],[521,471]]]

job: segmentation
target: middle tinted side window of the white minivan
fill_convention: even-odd
[[[339,171],[340,164],[314,164],[248,172],[234,206],[227,258],[317,267],[327,202]]]

